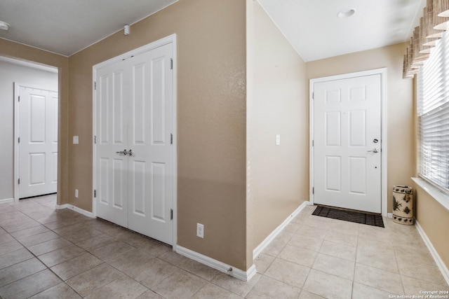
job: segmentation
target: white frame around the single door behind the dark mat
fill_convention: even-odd
[[[372,69],[369,71],[358,71],[355,73],[341,74],[322,78],[310,79],[309,82],[309,198],[310,203],[314,204],[314,84],[326,81],[335,81],[361,76],[370,76],[380,74],[381,81],[381,211],[382,216],[387,216],[387,68]]]

